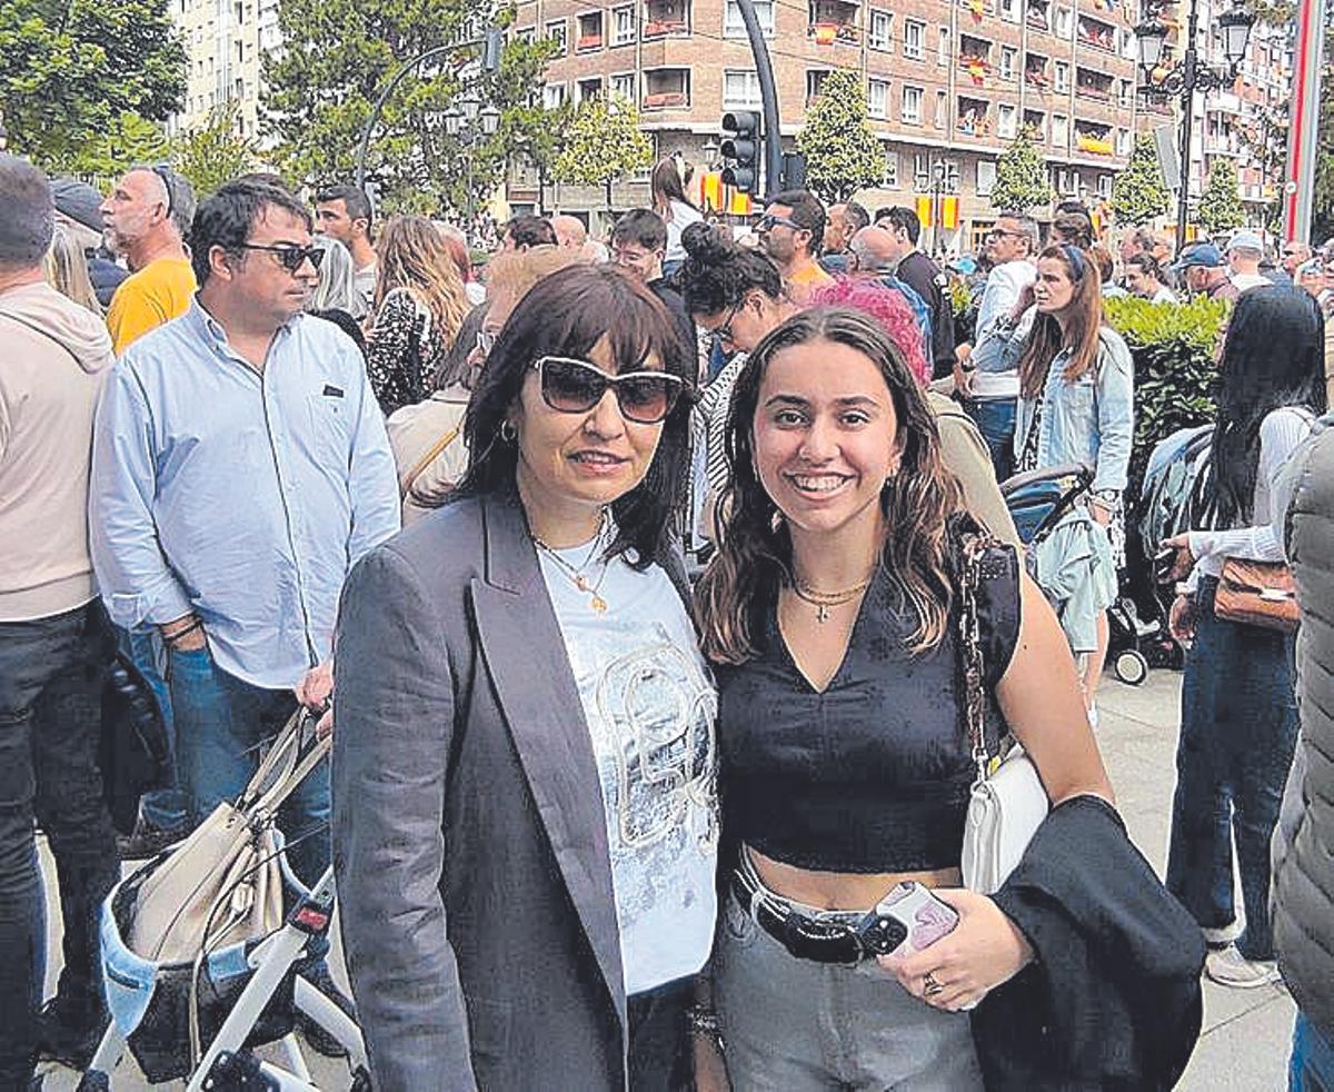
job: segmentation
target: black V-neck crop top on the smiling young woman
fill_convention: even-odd
[[[766,857],[823,872],[920,872],[959,864],[974,764],[959,708],[956,618],[911,655],[916,615],[875,577],[828,688],[811,688],[764,611],[759,651],[716,669],[723,828]],[[1015,551],[982,559],[987,689],[1019,637]]]

